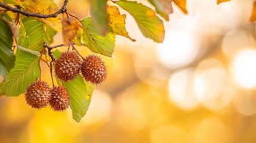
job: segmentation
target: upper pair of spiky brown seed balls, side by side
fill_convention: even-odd
[[[95,85],[107,77],[107,68],[97,55],[88,55],[81,62],[76,52],[63,52],[55,64],[56,76],[65,82],[75,79],[80,70],[84,79]]]

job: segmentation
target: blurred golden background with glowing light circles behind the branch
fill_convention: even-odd
[[[61,5],[63,1],[55,1]],[[143,4],[152,7],[146,1]],[[83,0],[70,13],[88,15]],[[256,142],[256,30],[252,0],[187,0],[165,22],[165,41],[144,38],[127,14],[129,35],[116,36],[115,58],[87,115],[35,110],[20,97],[0,98],[0,142]],[[53,45],[62,42],[61,33]],[[65,48],[61,48],[63,51]],[[78,47],[82,55],[91,52]],[[42,79],[51,83],[43,64]]]

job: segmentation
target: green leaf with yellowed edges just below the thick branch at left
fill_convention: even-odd
[[[19,29],[18,45],[34,51],[41,51],[43,43],[53,42],[56,31],[36,18],[23,18]]]

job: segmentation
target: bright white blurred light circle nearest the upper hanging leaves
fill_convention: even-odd
[[[199,39],[184,30],[171,30],[157,48],[161,63],[170,69],[178,69],[192,63],[199,51]]]

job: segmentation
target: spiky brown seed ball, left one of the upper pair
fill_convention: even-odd
[[[81,69],[81,60],[76,52],[63,52],[55,64],[55,75],[67,82],[73,80]]]

